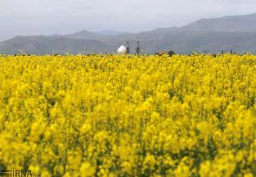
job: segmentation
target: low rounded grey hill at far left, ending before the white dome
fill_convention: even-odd
[[[0,43],[0,51],[5,54],[17,54],[21,51],[27,54],[78,54],[85,51],[107,52],[108,46],[98,40],[70,39],[54,36],[18,36]]]

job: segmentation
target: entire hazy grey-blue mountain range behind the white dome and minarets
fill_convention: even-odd
[[[138,33],[82,30],[67,35],[16,36],[0,42],[0,53],[112,53],[126,40],[130,42],[131,53],[135,52],[136,40],[139,40],[143,53],[173,50],[189,54],[194,51],[218,53],[233,50],[256,54],[256,13],[201,19],[186,26]]]

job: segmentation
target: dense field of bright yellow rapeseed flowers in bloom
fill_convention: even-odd
[[[256,56],[0,56],[0,170],[256,176]]]

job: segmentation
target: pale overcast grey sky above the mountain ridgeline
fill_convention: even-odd
[[[0,40],[87,29],[139,32],[256,12],[256,0],[0,0]]]

